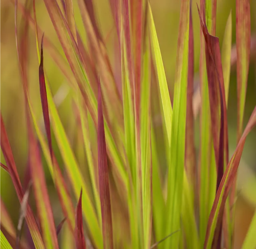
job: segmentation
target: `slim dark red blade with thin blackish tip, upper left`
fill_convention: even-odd
[[[53,151],[52,151],[52,143],[51,143],[50,117],[49,117],[49,108],[48,108],[45,79],[44,79],[43,41],[44,41],[44,34],[43,34],[42,40],[41,40],[41,60],[40,60],[40,65],[39,65],[39,85],[40,85],[41,104],[42,104],[42,110],[43,110],[43,116],[44,116],[44,125],[45,125],[45,129],[46,129],[48,145],[49,145],[51,160],[52,160]]]

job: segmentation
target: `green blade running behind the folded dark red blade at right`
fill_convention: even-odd
[[[215,1],[215,0],[213,0]],[[215,1],[216,2],[216,1]],[[210,34],[215,35],[215,15],[213,15],[212,0],[201,0],[200,10],[204,23],[206,23]],[[211,206],[216,194],[216,161],[214,157],[214,148],[211,135],[211,116],[209,89],[206,70],[205,57],[205,38],[202,31],[200,32],[200,93],[201,93],[201,110],[200,110],[200,160],[199,160],[199,234],[200,248],[203,247],[207,220],[210,214]]]

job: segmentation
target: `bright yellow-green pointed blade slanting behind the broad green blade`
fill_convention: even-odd
[[[168,137],[168,144],[171,145],[171,131],[172,131],[172,104],[169,95],[167,80],[165,76],[165,69],[163,67],[163,60],[161,51],[157,39],[155,23],[152,15],[152,10],[149,4],[149,15],[150,15],[150,36],[151,36],[151,50],[153,57],[155,57],[155,64],[157,69],[158,83],[161,93],[163,114],[165,120],[165,127]]]

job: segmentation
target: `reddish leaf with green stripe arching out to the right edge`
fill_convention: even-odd
[[[256,125],[256,106],[251,114],[251,117],[244,130],[244,133],[240,138],[238,145],[236,146],[236,150],[228,163],[227,169],[224,172],[218,191],[216,193],[216,198],[213,202],[212,210],[208,220],[204,248],[210,249],[212,246],[215,229],[217,226],[219,226],[219,224],[221,224],[222,220],[219,218],[222,218],[225,202],[228,197],[229,190],[236,176],[239,162],[243,153],[245,139],[255,125]]]

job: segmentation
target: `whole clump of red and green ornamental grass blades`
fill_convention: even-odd
[[[215,36],[216,0],[201,0],[197,6],[197,28],[201,30],[201,102],[197,105],[193,99],[194,1],[180,1],[173,102],[149,1],[109,0],[116,33],[114,65],[92,1],[77,0],[86,32],[83,37],[74,18],[73,0],[44,0],[65,58],[38,26],[35,0],[32,15],[27,2],[23,5],[15,0],[14,6],[30,174],[27,186],[22,186],[18,162],[0,115],[0,144],[5,161],[1,167],[10,174],[21,203],[15,229],[0,200],[5,214],[0,221],[0,247],[30,248],[33,242],[35,248],[49,249],[233,248],[236,172],[246,136],[256,125],[255,107],[243,129],[250,62],[250,0],[236,0],[238,130],[231,157],[227,103],[232,23],[230,13],[221,51]],[[18,13],[22,14],[24,28],[21,35],[17,30]],[[34,30],[37,48],[34,54],[38,58],[44,126],[29,93],[29,26]],[[45,51],[66,77],[77,115],[76,126],[81,131],[84,165],[79,164],[59,116],[45,70]],[[156,106],[163,134],[161,155],[153,115]],[[193,106],[197,106],[200,115],[198,155],[194,145],[197,111]],[[53,146],[53,138],[57,146]],[[55,155],[56,150],[61,160]],[[61,204],[63,220],[59,225],[54,221],[42,157]],[[166,165],[165,174],[160,161]],[[87,176],[82,168],[87,169]],[[35,200],[36,212],[30,207],[29,195]],[[243,249],[256,247],[255,217]],[[28,236],[23,236],[23,222],[29,228]],[[63,224],[67,226],[65,238],[58,239]]]

